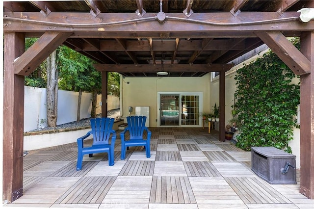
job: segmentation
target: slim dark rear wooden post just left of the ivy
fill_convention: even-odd
[[[219,141],[225,141],[225,71],[219,73]]]

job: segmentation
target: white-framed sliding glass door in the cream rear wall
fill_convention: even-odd
[[[203,95],[194,93],[158,93],[159,126],[200,127]]]

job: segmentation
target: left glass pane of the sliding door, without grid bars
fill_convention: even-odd
[[[160,95],[160,126],[179,126],[179,95]]]

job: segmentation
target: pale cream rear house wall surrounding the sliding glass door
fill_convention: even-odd
[[[128,84],[129,82],[129,84]],[[123,118],[129,116],[129,106],[150,107],[150,127],[157,127],[157,92],[203,92],[203,111],[209,112],[209,74],[204,77],[126,77],[122,85]]]

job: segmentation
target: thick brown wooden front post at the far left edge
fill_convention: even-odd
[[[4,33],[2,200],[23,195],[24,76],[14,74],[13,60],[25,51],[25,34]]]

